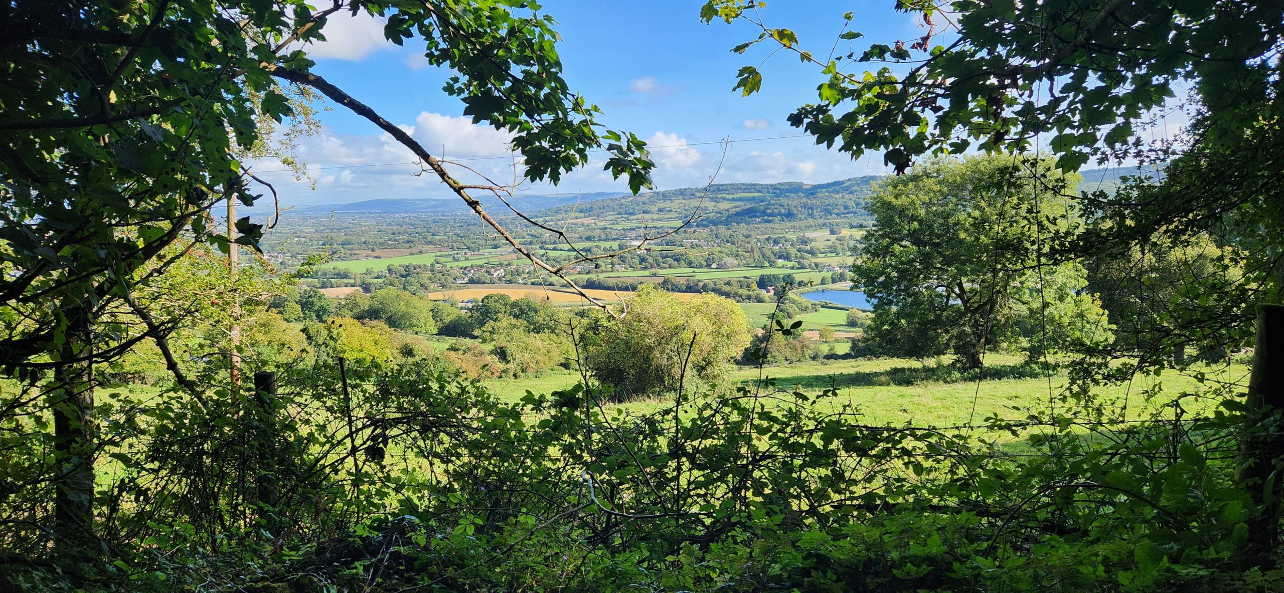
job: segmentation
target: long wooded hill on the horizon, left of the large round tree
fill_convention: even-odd
[[[561,205],[539,213],[543,218],[601,222],[672,221],[697,208],[697,226],[790,222],[799,219],[868,218],[865,196],[881,176],[853,177],[828,184],[714,184],[704,187],[648,191],[636,196],[600,199]]]

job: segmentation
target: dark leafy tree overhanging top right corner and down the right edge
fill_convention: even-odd
[[[1158,182],[1124,184],[1084,200],[1088,228],[1063,255],[1095,258],[1147,244],[1201,235],[1234,245],[1244,281],[1186,308],[1186,332],[1233,348],[1251,338],[1253,305],[1284,298],[1278,208],[1284,150],[1284,104],[1278,53],[1284,5],[1236,0],[1143,3],[898,1],[922,18],[924,35],[905,44],[876,40],[864,51],[811,53],[808,40],[768,27],[760,3],[710,0],[705,22],[750,23],[758,42],[794,53],[820,69],[817,100],[790,116],[829,146],[854,158],[881,150],[898,172],[928,154],[1049,150],[1063,171],[1135,158],[1165,164]],[[855,41],[856,13],[844,15],[840,40]],[[942,27],[946,42],[933,45]],[[1240,35],[1249,31],[1251,35]],[[824,58],[822,58],[824,56]],[[867,68],[860,72],[862,64]],[[877,68],[873,67],[877,64]],[[855,67],[855,68],[854,68]],[[740,72],[746,95],[764,83],[756,67]],[[1186,89],[1186,96],[1176,96]],[[1185,140],[1168,136],[1166,110],[1183,108]],[[1171,344],[1152,343],[1158,350]],[[1144,354],[1153,366],[1163,357]]]

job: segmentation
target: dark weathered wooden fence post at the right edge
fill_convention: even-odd
[[[1253,372],[1248,380],[1240,465],[1235,477],[1247,489],[1261,513],[1248,522],[1245,563],[1271,562],[1279,543],[1280,471],[1284,461],[1284,305],[1267,304],[1257,311],[1257,343]]]

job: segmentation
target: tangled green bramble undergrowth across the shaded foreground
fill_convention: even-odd
[[[636,413],[579,385],[503,402],[431,361],[349,361],[339,375],[327,356],[282,368],[254,422],[226,421],[256,409],[244,400],[172,398],[112,425],[109,440],[146,431],[168,490],[139,497],[148,485],[130,476],[150,470],[123,458],[104,497],[134,501],[117,521],[146,546],[118,548],[136,551],[95,587],[525,590],[556,578],[569,590],[1068,593],[1281,579],[1226,570],[1251,512],[1216,453],[1239,430],[1220,415],[990,417],[972,434],[871,425],[836,389],[770,380]],[[220,418],[236,438],[203,438]],[[62,585],[40,565],[4,578]]]

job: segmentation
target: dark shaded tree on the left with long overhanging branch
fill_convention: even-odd
[[[643,142],[605,130],[597,108],[561,76],[551,17],[502,0],[15,0],[0,5],[0,370],[26,389],[0,395],[0,457],[10,542],[72,542],[92,551],[95,525],[94,366],[152,340],[204,406],[166,336],[193,311],[149,311],[140,290],[198,243],[227,249],[216,203],[247,205],[271,190],[243,159],[265,122],[299,116],[300,95],[325,95],[412,150],[515,250],[543,262],[492,217],[447,164],[360,98],[312,72],[298,47],[324,39],[340,10],[386,22],[388,39],[420,44],[452,69],[446,87],[474,122],[512,133],[525,178],[550,180],[609,151],[605,168],[648,184]],[[263,189],[256,189],[263,187]],[[262,226],[235,222],[256,245]],[[565,237],[564,237],[565,239]],[[164,314],[162,314],[164,313]],[[46,424],[51,425],[46,429]],[[51,454],[33,443],[46,443]],[[10,486],[5,486],[10,492]],[[51,508],[46,503],[53,502]],[[46,512],[49,511],[49,512]],[[14,528],[18,529],[18,528]],[[22,528],[26,529],[26,528]]]

